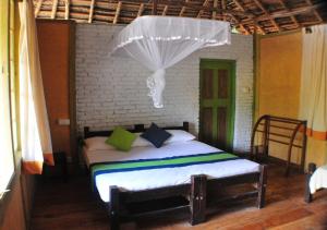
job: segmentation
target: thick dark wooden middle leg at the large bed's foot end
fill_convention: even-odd
[[[191,178],[191,225],[205,221],[206,218],[206,196],[207,177],[204,174],[192,175]]]

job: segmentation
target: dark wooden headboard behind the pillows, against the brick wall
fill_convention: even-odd
[[[189,132],[189,122],[184,121],[182,126],[166,126],[164,130],[184,130]],[[144,124],[134,124],[134,129],[129,129],[128,131],[132,133],[141,133],[146,131]],[[112,133],[112,130],[109,131],[90,131],[89,126],[84,128],[84,138],[89,138],[94,136],[109,136]]]

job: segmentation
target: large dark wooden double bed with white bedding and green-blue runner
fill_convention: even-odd
[[[189,123],[165,129],[189,131]],[[136,124],[130,131],[144,132],[145,128]],[[84,129],[84,138],[109,135],[110,131]],[[266,166],[196,140],[160,148],[135,146],[129,153],[84,147],[83,155],[93,190],[108,207],[111,229],[137,217],[177,210],[189,211],[191,225],[197,225],[205,221],[206,207],[231,199],[256,197],[258,208],[265,204]],[[243,183],[255,186],[231,197],[215,197],[215,191]]]

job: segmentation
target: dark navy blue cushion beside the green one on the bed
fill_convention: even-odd
[[[141,136],[148,142],[153,143],[157,148],[161,147],[162,144],[171,136],[166,130],[158,128],[157,124],[152,123],[149,129],[147,129]]]

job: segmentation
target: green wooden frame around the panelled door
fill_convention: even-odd
[[[233,141],[234,141],[234,123],[235,123],[235,82],[237,82],[237,61],[230,59],[199,59],[199,74],[198,74],[198,83],[199,83],[199,93],[198,93],[198,132],[201,132],[201,108],[202,108],[202,68],[204,63],[209,66],[217,66],[219,62],[229,63],[232,65],[231,68],[231,111],[230,111],[230,122],[228,125],[229,132],[227,133],[227,146],[228,150],[233,149]]]

